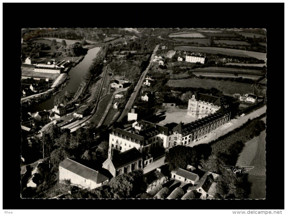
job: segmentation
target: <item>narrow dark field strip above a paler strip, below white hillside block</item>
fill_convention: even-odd
[[[225,67],[205,67],[205,68],[193,69],[191,71],[192,72],[226,72],[226,73],[240,73],[240,74],[262,75],[261,70],[225,68]]]

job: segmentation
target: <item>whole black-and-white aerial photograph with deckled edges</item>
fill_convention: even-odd
[[[22,29],[21,198],[265,199],[267,30],[124,27]]]

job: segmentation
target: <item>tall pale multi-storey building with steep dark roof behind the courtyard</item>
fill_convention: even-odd
[[[187,115],[202,118],[217,112],[224,106],[223,97],[194,92],[188,100]]]

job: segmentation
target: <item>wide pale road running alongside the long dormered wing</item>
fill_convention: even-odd
[[[259,109],[251,112],[248,115],[245,115],[243,117],[237,117],[237,119],[230,120],[230,122],[220,126],[219,128],[213,130],[211,133],[207,134],[206,138],[203,138],[196,142],[192,142],[188,144],[187,146],[193,147],[195,145],[209,143],[210,141],[216,140],[217,138],[221,137],[222,135],[227,134],[228,132],[234,130],[235,128],[240,127],[241,125],[246,123],[249,118],[252,120],[264,113],[266,113],[266,105],[264,105],[263,107],[260,107]]]

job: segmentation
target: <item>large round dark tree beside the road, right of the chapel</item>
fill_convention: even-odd
[[[172,169],[186,168],[187,164],[196,162],[196,152],[191,147],[177,145],[166,153],[165,163],[169,163]]]

